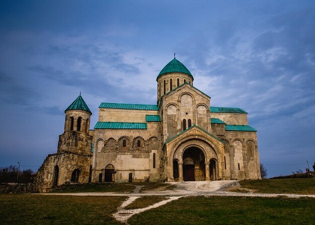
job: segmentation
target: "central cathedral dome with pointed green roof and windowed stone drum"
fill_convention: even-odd
[[[166,93],[181,86],[184,83],[193,85],[193,75],[190,71],[175,58],[169,62],[157,75],[157,101]]]

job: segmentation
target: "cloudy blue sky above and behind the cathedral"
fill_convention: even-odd
[[[36,170],[57,150],[80,91],[156,104],[176,58],[211,106],[240,107],[258,130],[268,176],[315,161],[314,1],[0,0],[0,166]]]

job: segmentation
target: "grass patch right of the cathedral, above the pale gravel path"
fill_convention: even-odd
[[[241,180],[240,184],[260,193],[315,194],[315,178]]]

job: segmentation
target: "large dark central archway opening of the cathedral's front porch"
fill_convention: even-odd
[[[196,147],[188,148],[183,154],[184,181],[205,180],[204,153]]]

